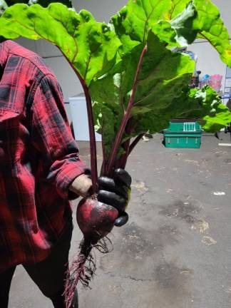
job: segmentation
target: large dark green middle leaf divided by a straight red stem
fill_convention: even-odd
[[[187,85],[190,82],[195,69],[195,63],[189,56],[169,51],[152,32],[148,35],[147,43],[148,51],[143,57],[138,75],[138,86],[131,113],[135,119],[137,118],[136,115],[141,115],[140,118],[142,119],[145,118],[145,113],[170,106],[172,101],[181,95],[185,83]],[[135,46],[106,76],[91,83],[90,93],[93,101],[95,101],[93,109],[96,122],[99,124],[98,131],[104,131],[103,126],[113,125],[113,130],[110,130],[111,135],[108,129],[107,140],[103,141],[106,154],[111,152],[119,128],[118,123],[120,123],[123,112],[127,109],[143,47],[142,43]],[[100,106],[102,110],[104,108],[107,112],[101,111],[101,113],[98,113]],[[108,123],[108,109],[110,109],[111,115],[119,120],[116,122],[110,120],[110,123]],[[162,120],[159,119],[159,122]],[[136,120],[135,125],[138,125]],[[151,125],[151,123],[148,125]],[[138,133],[137,130],[135,132]],[[127,135],[123,135],[123,140],[127,137]]]

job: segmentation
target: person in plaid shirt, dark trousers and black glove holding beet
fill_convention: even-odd
[[[130,175],[98,179],[98,200],[128,221]],[[73,230],[70,200],[91,195],[91,170],[78,157],[63,96],[36,53],[0,43],[0,303],[8,307],[14,270],[23,265],[53,307],[63,297]],[[73,307],[78,307],[77,294]]]

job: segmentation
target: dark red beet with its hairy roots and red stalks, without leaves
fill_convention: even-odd
[[[129,121],[130,111],[133,108],[135,91],[138,84],[138,74],[140,73],[140,68],[143,60],[143,56],[147,51],[147,46],[143,48],[142,53],[140,54],[140,59],[138,63],[138,68],[135,73],[135,79],[133,83],[133,92],[130,96],[128,103],[127,111],[123,116],[120,129],[116,135],[116,140],[114,142],[112,152],[108,161],[107,170],[104,170],[104,173],[111,175],[113,169],[115,168],[116,163],[116,153],[118,152],[118,147],[120,145],[121,138],[125,129],[130,133],[132,124]],[[69,62],[70,63],[70,62]],[[70,63],[71,64],[71,63]],[[71,65],[72,66],[72,65]],[[73,66],[72,66],[73,67]],[[83,86],[83,91],[86,96],[86,104],[88,111],[88,128],[90,135],[90,150],[91,150],[91,177],[93,183],[93,195],[86,199],[81,200],[77,208],[77,222],[81,231],[83,232],[83,240],[80,245],[80,252],[76,260],[73,261],[72,265],[69,267],[67,272],[67,279],[65,285],[64,296],[66,299],[66,308],[72,307],[73,296],[76,291],[76,286],[78,281],[81,281],[84,287],[88,287],[91,278],[93,277],[96,271],[96,264],[93,259],[92,250],[96,248],[103,253],[107,253],[108,247],[106,245],[106,236],[113,229],[116,218],[118,218],[118,210],[111,205],[103,204],[97,200],[98,192],[98,173],[97,173],[97,158],[96,158],[96,138],[95,130],[93,124],[93,111],[91,106],[91,96],[86,86],[85,81],[79,75],[78,71],[73,67],[76,72],[81,85]],[[129,124],[130,123],[130,124]],[[127,127],[126,125],[129,124]],[[120,163],[123,163],[123,168],[125,168],[125,163],[130,152],[130,140],[125,143],[125,155],[121,158]],[[105,168],[105,160],[103,160],[103,169]],[[105,174],[104,174],[105,175]]]

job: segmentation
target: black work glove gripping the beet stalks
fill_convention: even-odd
[[[102,176],[98,178],[98,201],[116,207],[119,217],[116,219],[116,227],[121,227],[128,222],[128,213],[125,208],[130,200],[130,175],[122,168],[113,171],[112,178]]]

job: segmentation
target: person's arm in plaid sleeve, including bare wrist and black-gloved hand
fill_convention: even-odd
[[[31,142],[41,154],[46,167],[44,169],[47,170],[46,179],[56,185],[60,195],[69,199],[91,195],[91,171],[78,157],[78,147],[68,125],[61,88],[51,74],[43,77],[34,92]],[[116,220],[118,226],[128,221],[124,210],[129,201],[130,182],[130,175],[125,170],[118,170],[114,179],[99,179],[98,200],[119,210],[120,217]]]

